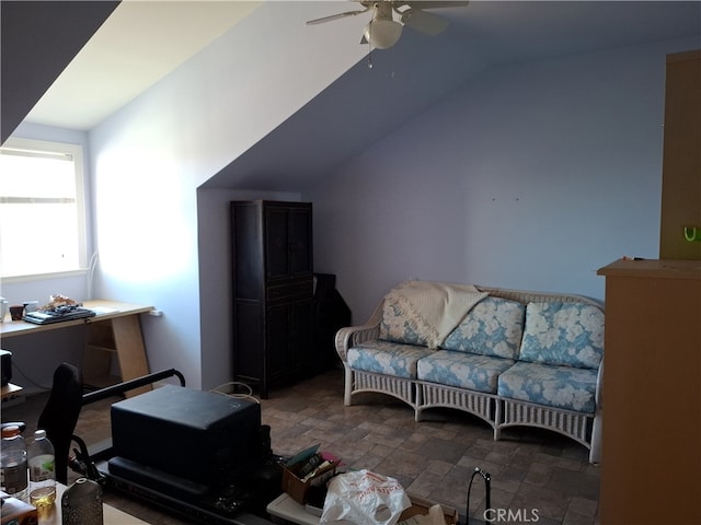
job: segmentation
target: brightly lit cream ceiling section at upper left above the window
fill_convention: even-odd
[[[91,129],[226,33],[260,3],[125,0],[26,119]]]

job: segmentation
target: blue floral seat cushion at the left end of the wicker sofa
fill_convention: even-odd
[[[415,380],[416,362],[432,353],[427,347],[374,340],[349,348],[347,362],[354,370]]]

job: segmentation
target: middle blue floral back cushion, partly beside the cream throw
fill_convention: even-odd
[[[480,301],[446,338],[443,348],[516,359],[524,334],[526,305],[501,298]]]

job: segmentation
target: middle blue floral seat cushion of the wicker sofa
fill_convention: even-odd
[[[441,385],[496,394],[497,378],[514,361],[439,350],[418,361],[418,378]]]

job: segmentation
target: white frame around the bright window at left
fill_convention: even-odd
[[[76,171],[76,212],[78,225],[78,268],[49,271],[45,273],[30,273],[25,276],[0,276],[7,282],[21,282],[41,278],[55,278],[84,273],[88,271],[88,220],[85,202],[85,175],[83,162],[82,144],[64,143],[48,140],[24,139],[10,137],[0,148],[2,150],[14,150],[25,153],[35,152],[42,154],[71,155]]]

